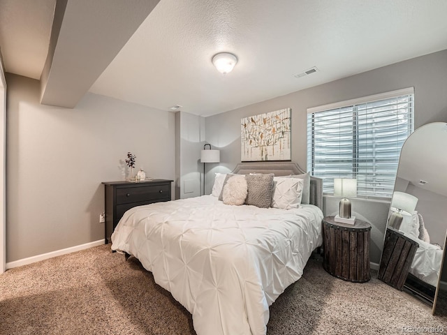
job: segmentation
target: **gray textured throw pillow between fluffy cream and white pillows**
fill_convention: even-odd
[[[248,194],[246,204],[269,208],[272,204],[273,174],[246,174]]]

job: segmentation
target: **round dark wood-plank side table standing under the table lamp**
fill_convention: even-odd
[[[354,225],[323,219],[323,268],[332,276],[365,283],[369,273],[369,233],[371,225],[356,218]]]

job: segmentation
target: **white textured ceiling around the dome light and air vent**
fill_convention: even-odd
[[[78,7],[89,3],[71,1]],[[110,7],[123,0],[101,1]],[[8,72],[39,77],[52,7],[54,0],[0,0],[0,46]],[[217,114],[445,50],[445,13],[445,0],[431,0],[430,6],[420,0],[161,0],[85,90],[160,110],[179,104],[184,112]],[[99,26],[105,18],[99,13],[96,20]],[[65,29],[101,31],[84,32],[74,24]],[[211,63],[222,51],[239,58],[228,75]],[[313,66],[318,72],[293,77]]]

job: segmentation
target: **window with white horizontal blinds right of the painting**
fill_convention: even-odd
[[[356,178],[358,196],[391,198],[413,102],[410,88],[307,110],[307,170],[324,193],[334,178]]]

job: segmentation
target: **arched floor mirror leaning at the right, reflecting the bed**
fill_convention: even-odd
[[[416,129],[402,147],[378,277],[432,306],[439,290],[447,232],[447,123]],[[444,266],[446,272],[447,265]]]

